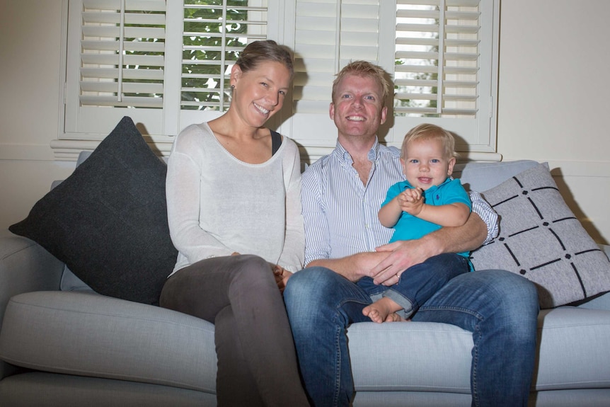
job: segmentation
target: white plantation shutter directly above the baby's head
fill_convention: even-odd
[[[471,159],[496,158],[476,153],[495,151],[497,7],[495,0],[396,0],[393,144],[433,122],[454,132]]]

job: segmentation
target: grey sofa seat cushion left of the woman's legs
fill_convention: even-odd
[[[12,297],[0,358],[45,372],[216,393],[212,323],[93,292]]]

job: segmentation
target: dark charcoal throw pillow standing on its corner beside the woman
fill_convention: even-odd
[[[178,255],[169,236],[166,171],[123,117],[69,178],[8,229],[39,243],[100,294],[159,304]]]

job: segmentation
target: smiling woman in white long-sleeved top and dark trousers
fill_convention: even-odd
[[[168,161],[179,253],[161,306],[214,323],[219,406],[309,405],[278,290],[283,268],[303,263],[299,151],[263,127],[292,74],[284,47],[248,45],[231,69],[229,110],[183,130]]]

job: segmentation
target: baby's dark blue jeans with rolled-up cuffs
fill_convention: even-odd
[[[381,294],[396,302],[404,310],[403,316],[409,318],[449,280],[468,270],[470,265],[464,256],[444,253],[408,268],[395,285],[375,284],[371,277],[362,277],[356,284],[371,297]]]

